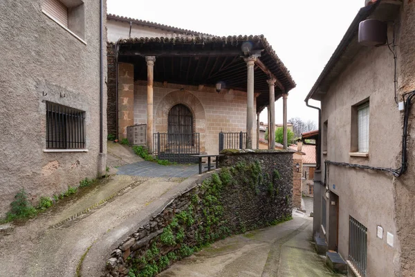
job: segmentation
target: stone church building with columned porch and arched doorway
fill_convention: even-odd
[[[116,15],[107,28],[108,131],[165,159],[217,154],[220,141],[257,148],[255,117],[295,87],[263,36],[216,37]]]

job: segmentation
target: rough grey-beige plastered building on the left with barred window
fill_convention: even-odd
[[[0,1],[0,216],[22,188],[37,204],[105,172],[102,6]]]

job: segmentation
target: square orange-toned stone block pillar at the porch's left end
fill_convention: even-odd
[[[134,65],[118,63],[118,139],[127,138],[134,125]]]

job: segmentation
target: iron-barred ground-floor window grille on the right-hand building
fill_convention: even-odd
[[[367,228],[349,216],[349,261],[360,276],[366,276]]]

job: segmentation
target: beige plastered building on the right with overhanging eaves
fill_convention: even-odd
[[[313,234],[351,274],[414,276],[415,2],[372,2],[306,98],[321,101]]]

